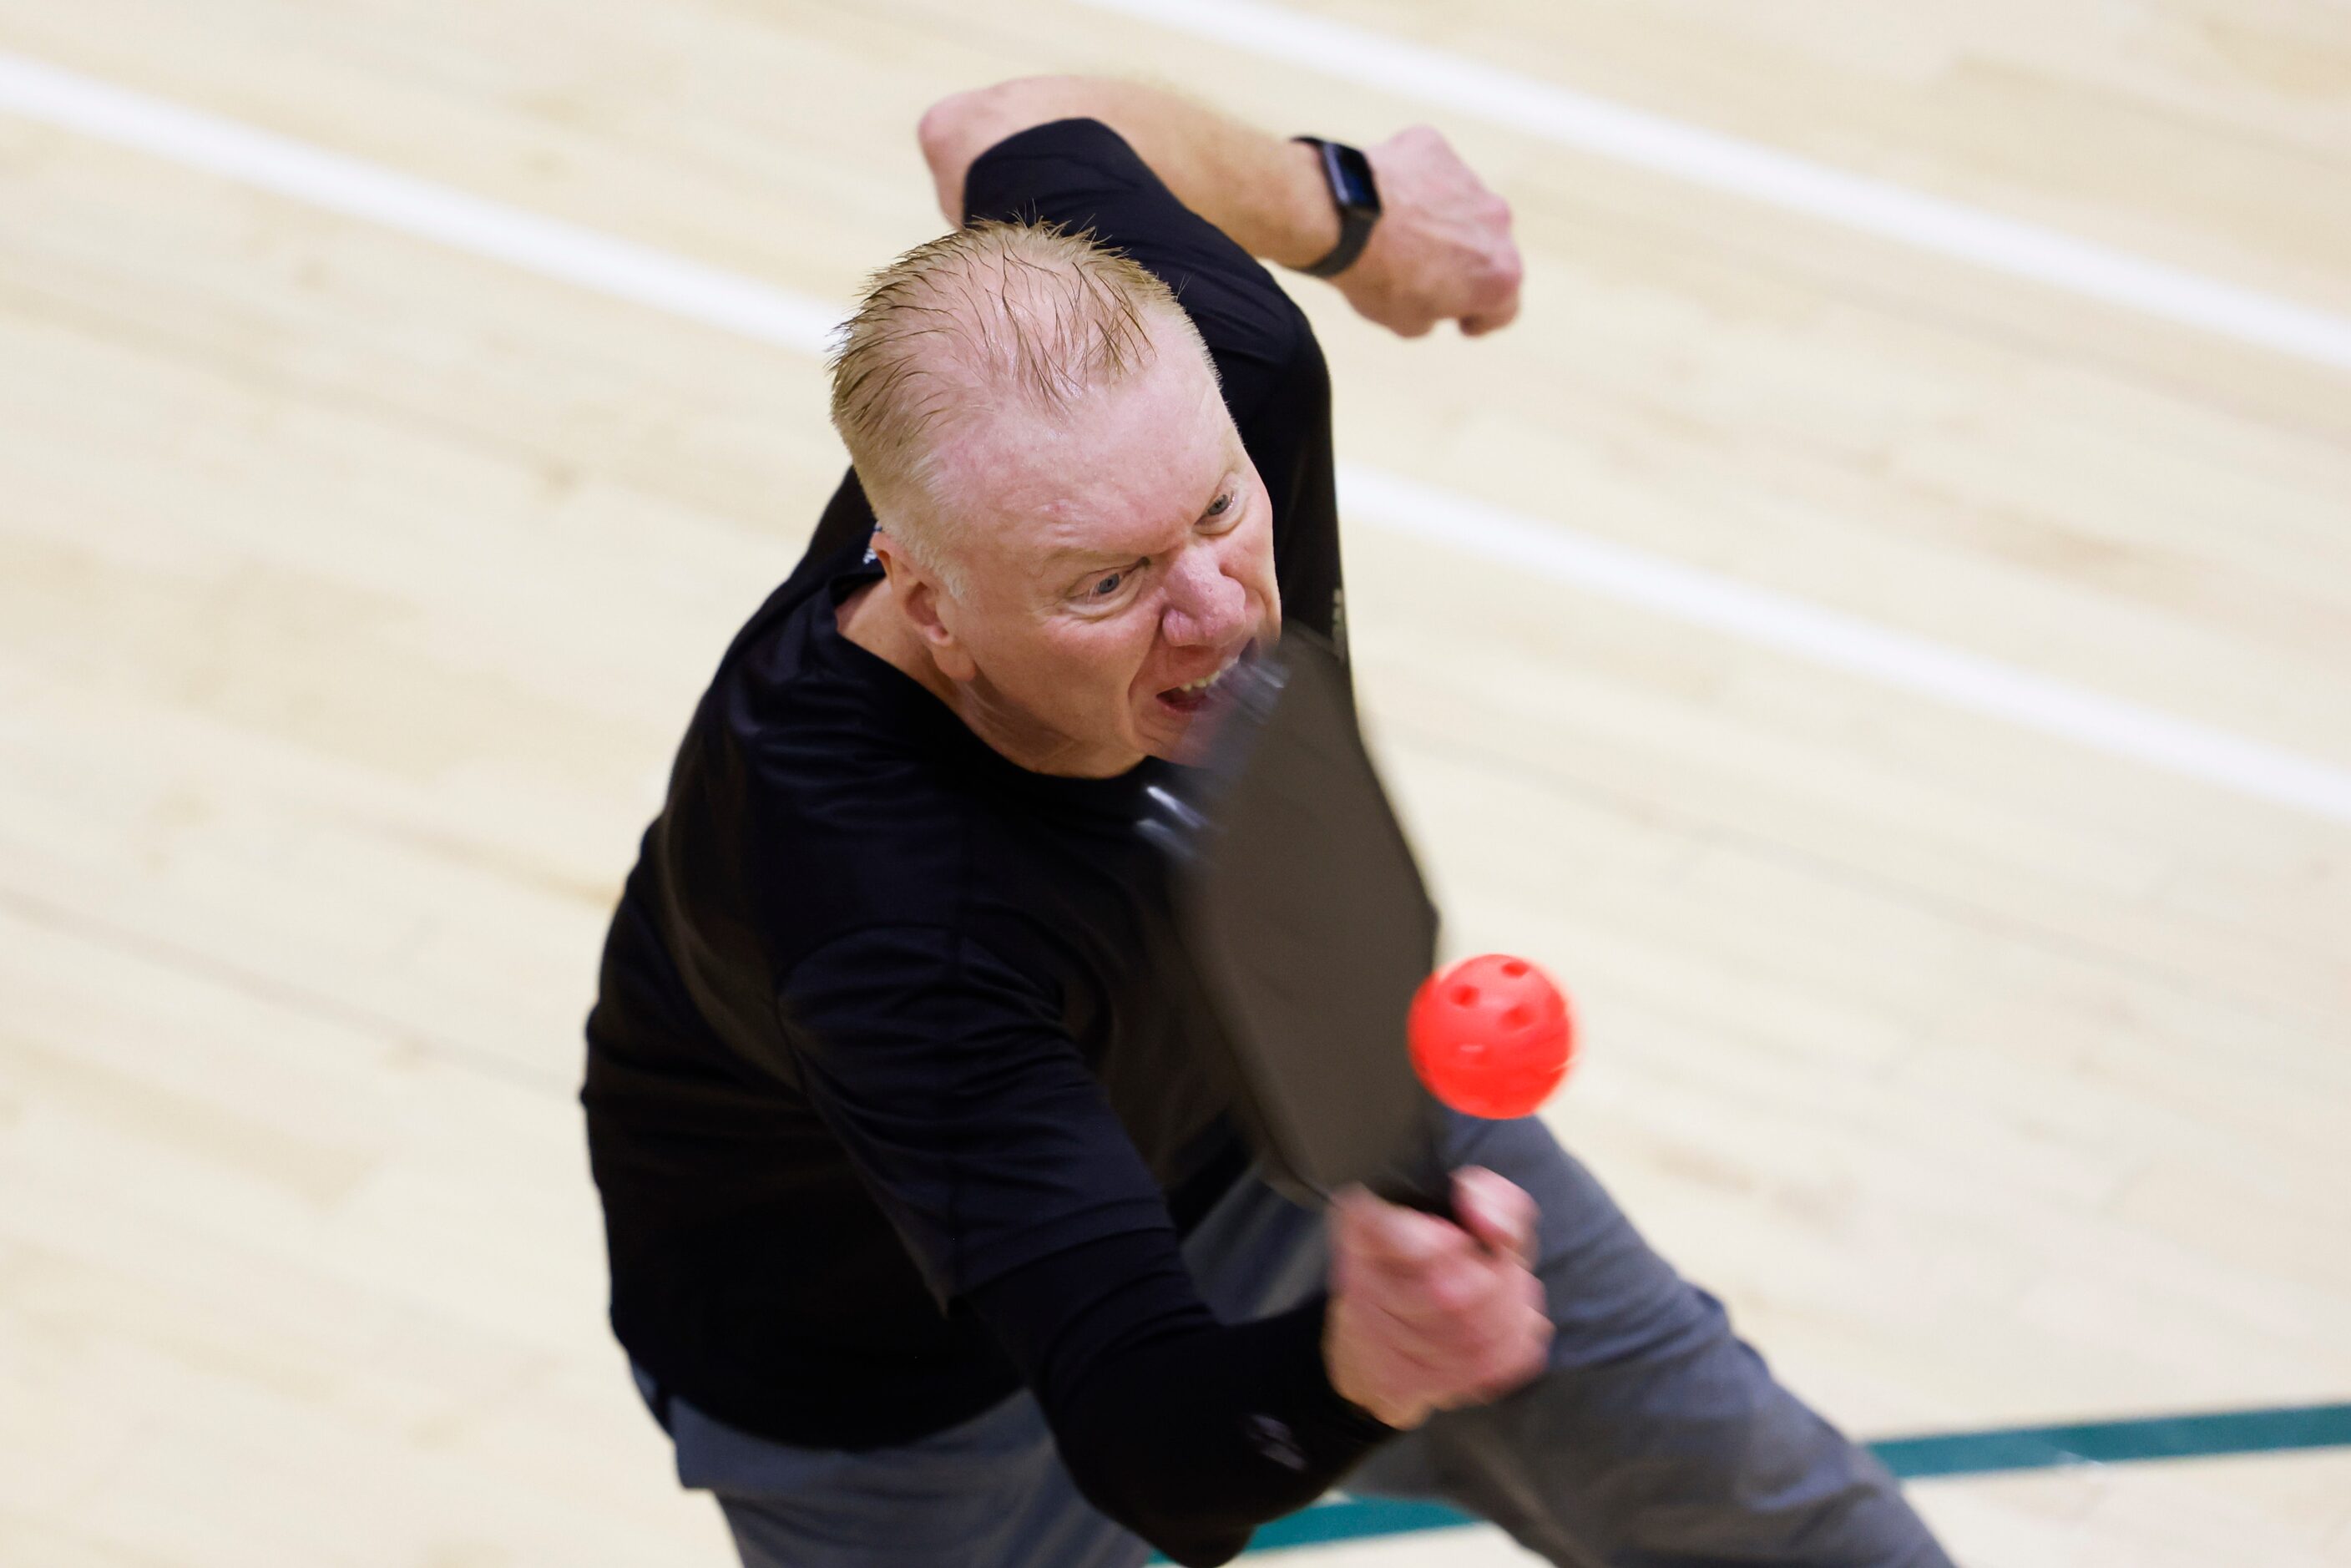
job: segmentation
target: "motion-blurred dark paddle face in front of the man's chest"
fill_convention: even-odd
[[[1154,790],[1176,924],[1234,1051],[1267,1178],[1295,1201],[1366,1182],[1441,1206],[1434,1103],[1404,1018],[1436,905],[1364,752],[1347,670],[1305,630],[1211,693],[1199,766]],[[1199,726],[1194,726],[1199,729]]]

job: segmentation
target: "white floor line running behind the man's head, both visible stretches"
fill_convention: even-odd
[[[844,315],[837,306],[755,277],[538,219],[5,52],[0,52],[0,110],[799,353],[820,353],[832,324]],[[1396,475],[1345,463],[1340,484],[1345,510],[1354,522],[1427,538],[1455,555],[1483,557],[1516,571],[1540,571],[1587,592],[1742,637],[1881,686],[2005,719],[2252,799],[2351,823],[2351,771],[2325,762]]]

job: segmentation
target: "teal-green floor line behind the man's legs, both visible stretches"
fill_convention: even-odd
[[[1996,1427],[1991,1432],[1890,1436],[1869,1443],[1869,1453],[1878,1455],[1886,1469],[1904,1481],[1989,1476],[2062,1465],[2212,1460],[2231,1453],[2292,1453],[2302,1448],[2351,1448],[2351,1403],[2144,1415],[2067,1427]],[[1248,1549],[1286,1552],[1340,1540],[1453,1530],[1469,1523],[1479,1521],[1441,1502],[1347,1497],[1272,1521],[1258,1530]]]

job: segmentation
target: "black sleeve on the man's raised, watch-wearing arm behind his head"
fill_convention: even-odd
[[[1331,369],[1272,273],[1100,120],[1034,125],[980,153],[964,174],[964,221],[980,219],[1093,230],[1176,292],[1274,503],[1281,614],[1345,651]]]

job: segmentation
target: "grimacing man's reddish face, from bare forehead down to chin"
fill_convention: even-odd
[[[1023,766],[1171,757],[1213,679],[1281,628],[1272,503],[1199,348],[1060,416],[976,421],[936,454],[964,569],[936,614],[966,722]],[[966,677],[969,668],[969,677]]]

